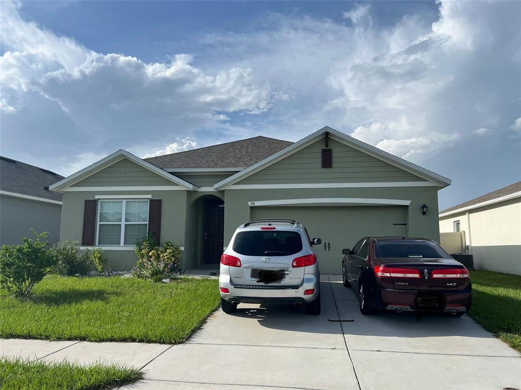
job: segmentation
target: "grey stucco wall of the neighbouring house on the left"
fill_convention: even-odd
[[[0,244],[20,244],[22,237],[48,231],[47,241],[58,242],[61,205],[0,195]]]

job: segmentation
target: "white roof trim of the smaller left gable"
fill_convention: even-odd
[[[94,164],[89,165],[86,168],[83,168],[81,171],[78,171],[76,173],[73,173],[70,176],[67,176],[65,179],[58,181],[58,183],[55,183],[51,186],[51,189],[54,191],[60,191],[61,189],[71,186],[75,183],[77,183],[80,180],[83,180],[86,177],[89,177],[96,172],[101,171],[102,169],[122,160],[122,159],[129,159],[130,161],[142,166],[143,168],[146,168],[149,171],[152,171],[159,176],[162,176],[173,183],[179,184],[180,186],[187,187],[188,189],[195,190],[197,189],[197,186],[194,186],[191,183],[188,183],[188,181],[185,181],[177,176],[174,176],[168,172],[163,171],[162,169],[158,168],[157,166],[154,166],[139,157],[133,155],[132,153],[127,152],[126,150],[120,149],[117,152],[114,152],[104,159],[101,159],[100,161],[95,162]]]

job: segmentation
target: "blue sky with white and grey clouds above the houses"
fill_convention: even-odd
[[[521,2],[0,2],[0,154],[70,175],[324,126],[452,179],[521,180]]]

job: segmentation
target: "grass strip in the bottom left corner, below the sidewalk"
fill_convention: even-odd
[[[79,366],[69,362],[0,359],[2,390],[108,389],[141,378],[141,371],[123,366]]]

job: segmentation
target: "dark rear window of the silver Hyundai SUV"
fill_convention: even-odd
[[[241,231],[233,240],[233,251],[245,256],[289,256],[302,251],[302,238],[296,231]]]

